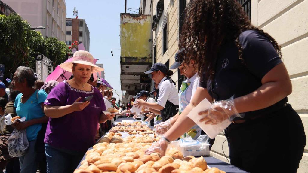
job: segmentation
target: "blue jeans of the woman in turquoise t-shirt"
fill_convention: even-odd
[[[29,142],[29,147],[25,155],[19,157],[20,173],[36,173],[36,140]]]

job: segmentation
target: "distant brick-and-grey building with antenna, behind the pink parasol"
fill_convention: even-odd
[[[84,19],[66,18],[66,36],[65,43],[67,46],[75,41],[83,43],[85,49],[90,51],[90,32]]]

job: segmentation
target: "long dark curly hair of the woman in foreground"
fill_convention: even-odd
[[[263,34],[282,57],[281,47],[275,39],[253,26],[236,0],[191,0],[186,7],[180,34],[180,47],[188,50],[189,58],[184,61],[195,60],[201,80],[213,80],[218,52],[225,42],[234,42],[238,49],[238,58],[245,63],[239,41],[239,35],[245,30]]]

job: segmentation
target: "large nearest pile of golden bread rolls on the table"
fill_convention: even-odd
[[[174,147],[166,155],[145,155],[145,151],[158,141],[149,135],[127,136],[110,132],[100,143],[87,151],[85,160],[74,173],[224,173],[217,168],[207,169],[203,157],[183,155]]]

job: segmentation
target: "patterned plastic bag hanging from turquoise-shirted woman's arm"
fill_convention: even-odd
[[[20,157],[26,154],[29,147],[26,129],[14,129],[8,139],[9,155],[11,157]]]

